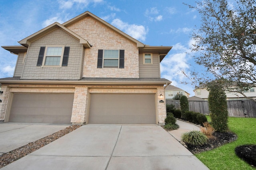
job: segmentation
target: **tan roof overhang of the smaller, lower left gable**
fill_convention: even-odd
[[[64,30],[66,33],[68,33],[69,35],[71,35],[74,38],[76,38],[77,40],[79,40],[80,44],[84,45],[85,48],[91,48],[92,47],[88,43],[88,41],[86,41],[85,39],[83,39],[82,37],[80,37],[79,35],[74,33],[73,31],[67,29],[66,27],[64,27],[63,25],[61,25],[58,22],[55,22],[55,23],[49,25],[48,27],[45,27],[44,29],[41,29],[40,31],[37,31],[36,33],[18,41],[18,43],[20,43],[21,45],[23,45],[25,47],[28,47],[30,45],[30,43],[32,43],[33,41],[39,39],[40,37],[50,33],[51,31],[54,31],[55,29],[58,29],[58,28]]]

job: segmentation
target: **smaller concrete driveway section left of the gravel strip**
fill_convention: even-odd
[[[0,123],[0,155],[66,127],[68,125]]]

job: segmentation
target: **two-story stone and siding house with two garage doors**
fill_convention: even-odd
[[[160,62],[172,47],[144,45],[90,12],[18,43],[2,46],[18,59],[14,76],[0,79],[0,120],[164,123],[171,82]]]

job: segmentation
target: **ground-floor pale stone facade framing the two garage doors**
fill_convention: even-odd
[[[3,102],[0,105],[0,120],[5,119],[5,113],[10,112],[10,106],[7,106],[11,93],[74,93],[74,102],[72,108],[71,123],[83,124],[88,118],[88,99],[90,93],[142,93],[156,94],[156,114],[159,124],[164,123],[166,118],[165,103],[159,103],[160,94],[164,94],[162,86],[90,86],[90,85],[14,85],[3,84],[1,94]],[[12,96],[12,95],[11,95]]]

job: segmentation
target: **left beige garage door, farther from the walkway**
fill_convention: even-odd
[[[70,123],[74,94],[14,94],[9,122]]]

